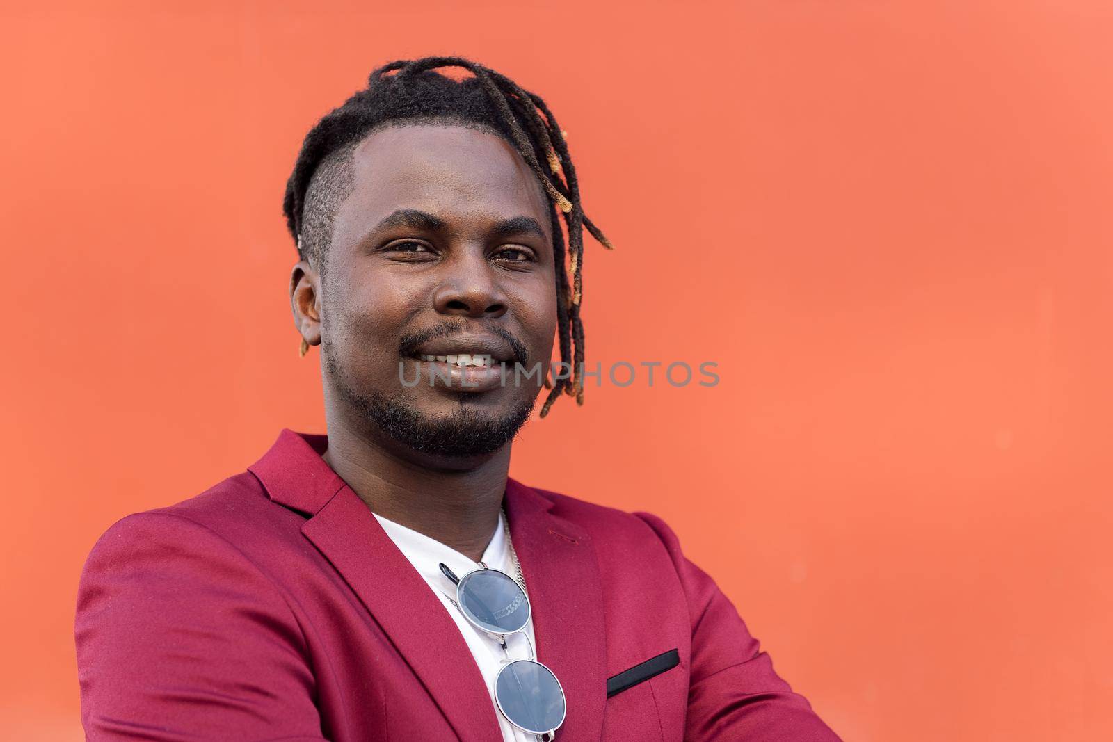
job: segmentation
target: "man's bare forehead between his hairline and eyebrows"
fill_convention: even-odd
[[[336,241],[358,238],[410,208],[451,227],[530,216],[549,233],[549,202],[533,171],[499,135],[463,126],[380,129],[353,151],[355,184],[336,218]]]

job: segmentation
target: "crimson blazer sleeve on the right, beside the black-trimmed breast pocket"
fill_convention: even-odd
[[[837,742],[808,701],[774,672],[735,605],[683,555],[664,521],[651,513],[634,515],[664,543],[688,598],[692,634],[684,740]]]

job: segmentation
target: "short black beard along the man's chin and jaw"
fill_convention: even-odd
[[[357,392],[344,378],[327,343],[322,355],[333,384],[347,404],[371,419],[387,437],[408,448],[445,458],[493,454],[514,439],[530,419],[536,397],[523,402],[503,417],[480,413],[466,403],[444,417],[430,417],[411,406],[388,399],[377,389]]]

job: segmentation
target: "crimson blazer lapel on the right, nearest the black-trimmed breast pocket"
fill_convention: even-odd
[[[503,503],[530,595],[538,660],[556,675],[568,701],[556,739],[598,740],[607,709],[607,627],[594,546],[531,487],[508,479]]]

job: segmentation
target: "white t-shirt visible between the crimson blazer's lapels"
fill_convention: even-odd
[[[383,526],[386,535],[391,537],[391,541],[410,560],[410,563],[414,565],[417,574],[425,578],[425,583],[441,598],[444,610],[456,622],[460,633],[463,634],[464,641],[467,642],[467,649],[472,651],[472,656],[475,657],[475,664],[479,665],[480,672],[486,681],[487,693],[491,696],[491,704],[494,706],[494,715],[499,719],[499,726],[502,729],[502,739],[504,742],[536,742],[536,735],[526,734],[506,721],[494,701],[494,680],[502,669],[501,661],[506,656],[506,652],[510,653],[510,657],[513,660],[529,659],[529,644],[522,636],[511,634],[506,637],[506,650],[503,651],[499,644],[499,640],[467,623],[460,609],[449,600],[449,596],[453,600],[456,597],[456,586],[452,584],[452,581],[437,566],[437,564],[444,562],[457,577],[462,577],[465,573],[477,570],[479,564],[472,562],[451,546],[445,546],[423,533],[407,528],[394,521],[388,521],[377,513],[373,513],[373,515]],[[486,550],[483,552],[482,562],[493,570],[500,570],[516,577],[514,562],[506,543],[506,533],[503,531],[504,518],[505,514],[500,511],[499,525],[491,535],[491,543],[487,544]],[[525,633],[529,634],[530,642],[532,643],[534,641],[532,615],[525,624]]]

